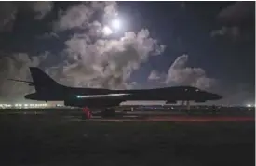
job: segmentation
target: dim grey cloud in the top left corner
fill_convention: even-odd
[[[43,19],[51,11],[52,2],[0,2],[0,31],[11,31],[18,12],[33,12],[34,19]]]

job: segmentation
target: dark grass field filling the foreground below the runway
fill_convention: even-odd
[[[254,165],[254,122],[0,116],[0,165]]]

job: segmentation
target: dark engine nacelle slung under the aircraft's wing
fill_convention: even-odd
[[[118,106],[123,100],[121,99],[106,99],[106,98],[75,98],[64,101],[65,106],[101,108]]]

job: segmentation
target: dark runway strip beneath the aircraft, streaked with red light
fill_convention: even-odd
[[[173,114],[168,112],[129,112],[116,114],[115,117],[101,117],[93,115],[91,119],[86,119],[81,111],[7,111],[1,112],[2,115],[24,115],[27,116],[59,116],[64,121],[184,121],[184,122],[209,122],[209,121],[255,121],[253,114],[250,115],[222,115],[222,114]]]

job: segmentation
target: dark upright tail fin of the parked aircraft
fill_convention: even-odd
[[[50,78],[43,70],[36,67],[30,67],[34,88],[36,91],[53,89],[60,84]]]

